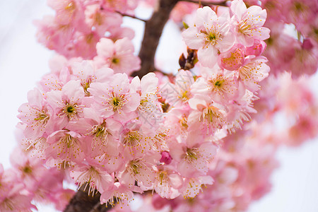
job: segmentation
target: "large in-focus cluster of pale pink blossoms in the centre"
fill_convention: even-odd
[[[72,23],[81,16],[76,8]],[[250,119],[257,83],[269,72],[261,50],[247,54],[246,43],[230,33],[235,23],[228,17],[199,8],[196,27],[186,30],[184,39],[204,44],[198,51],[202,65],[222,50],[221,68],[208,64],[200,76],[180,70],[174,83],[155,73],[129,77],[139,59],[127,38],[102,37],[91,60],[55,58],[52,73],[19,108],[25,143],[48,167],[68,170],[78,187],[87,183],[89,193],[100,192],[101,203],[113,204],[113,196],[130,200],[132,192],[149,189],[169,199],[193,198],[202,184],[213,184],[207,173],[218,140]],[[205,19],[211,20],[206,28]],[[246,36],[252,42],[264,38]],[[201,54],[206,49],[214,53]],[[169,105],[165,112],[162,103]]]

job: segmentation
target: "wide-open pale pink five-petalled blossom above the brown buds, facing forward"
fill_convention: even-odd
[[[182,33],[184,42],[191,49],[198,50],[198,59],[202,66],[213,68],[218,52],[226,52],[235,42],[230,31],[228,13],[218,17],[208,6],[196,11],[195,26]]]

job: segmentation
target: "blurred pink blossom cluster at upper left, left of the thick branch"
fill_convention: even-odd
[[[93,59],[100,38],[131,40],[134,31],[122,28],[122,13],[136,8],[136,1],[49,0],[55,16],[45,16],[35,24],[39,42],[67,58]]]

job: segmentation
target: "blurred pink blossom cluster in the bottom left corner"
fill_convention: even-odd
[[[62,172],[47,169],[31,151],[20,148],[13,151],[10,160],[12,167],[8,170],[0,164],[0,211],[31,212],[36,209],[32,200],[64,209],[74,191],[63,188]]]

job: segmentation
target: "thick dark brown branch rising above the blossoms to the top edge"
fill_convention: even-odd
[[[155,71],[155,51],[163,33],[165,23],[169,19],[172,8],[179,0],[160,0],[159,8],[153,13],[151,19],[146,22],[145,33],[139,57],[141,59],[141,69],[132,73],[132,76],[140,78],[151,71]]]

